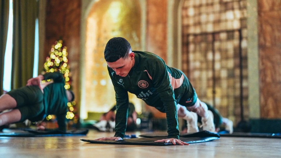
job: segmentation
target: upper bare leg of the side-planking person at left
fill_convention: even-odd
[[[16,108],[17,102],[11,97],[9,94],[3,94],[0,96],[0,112],[4,110],[9,110],[12,108]]]

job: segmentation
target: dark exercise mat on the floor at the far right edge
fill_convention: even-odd
[[[244,133],[233,132],[232,134],[220,134],[222,137],[255,137],[255,138],[281,138],[281,134],[277,133]]]

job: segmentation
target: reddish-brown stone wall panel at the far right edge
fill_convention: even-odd
[[[281,0],[258,0],[261,118],[281,118]]]

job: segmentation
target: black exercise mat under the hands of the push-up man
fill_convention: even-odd
[[[173,145],[171,142],[154,142],[156,140],[166,139],[167,136],[161,137],[153,137],[153,138],[132,138],[132,139],[124,139],[124,140],[87,140],[81,139],[84,142],[90,142],[95,144],[126,144],[126,145],[155,145],[155,146],[166,146]],[[180,136],[180,140],[186,143],[200,143],[200,142],[208,142],[211,140],[219,139],[219,134],[202,131],[193,134],[188,134],[185,136]]]

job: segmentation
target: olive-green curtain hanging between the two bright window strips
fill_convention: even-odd
[[[12,89],[33,77],[37,8],[36,0],[13,1]]]

